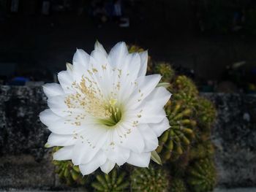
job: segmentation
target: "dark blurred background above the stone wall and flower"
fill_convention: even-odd
[[[98,39],[139,45],[204,92],[256,91],[254,0],[0,0],[0,85],[42,85]]]

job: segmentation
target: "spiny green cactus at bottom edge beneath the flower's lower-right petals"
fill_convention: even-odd
[[[165,167],[135,168],[131,174],[131,188],[135,192],[169,191],[169,174]]]

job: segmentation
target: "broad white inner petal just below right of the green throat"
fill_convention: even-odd
[[[121,147],[142,153],[145,147],[143,137],[138,131],[138,128],[132,126],[124,126],[124,130],[127,131],[126,137],[122,139],[122,143],[119,143]]]

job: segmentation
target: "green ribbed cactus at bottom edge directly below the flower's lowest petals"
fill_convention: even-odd
[[[117,172],[116,168],[109,174],[97,174],[97,181],[91,183],[95,191],[118,192],[129,191],[129,180],[124,171]]]

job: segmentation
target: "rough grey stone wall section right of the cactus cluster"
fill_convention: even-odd
[[[256,96],[203,94],[217,107],[212,132],[219,185],[256,185]]]

